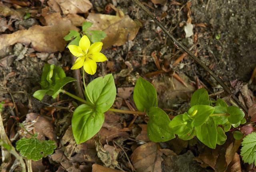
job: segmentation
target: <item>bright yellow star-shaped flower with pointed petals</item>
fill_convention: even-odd
[[[90,45],[90,40],[86,35],[80,39],[79,46],[68,45],[69,51],[78,57],[71,69],[78,69],[84,66],[86,73],[95,74],[97,69],[96,62],[107,60],[106,56],[100,53],[102,45],[102,42],[96,42]]]

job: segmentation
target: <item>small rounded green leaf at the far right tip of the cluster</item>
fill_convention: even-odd
[[[230,114],[230,116],[228,117],[228,121],[232,124],[238,123],[244,117],[244,112],[242,111],[242,109],[239,109],[236,106],[229,106],[227,108],[227,111]]]

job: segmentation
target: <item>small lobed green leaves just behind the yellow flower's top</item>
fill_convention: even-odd
[[[65,41],[70,41],[68,45],[78,45],[81,37],[86,35],[92,43],[100,42],[102,39],[106,37],[106,33],[100,30],[89,30],[93,23],[91,22],[84,22],[82,24],[82,32],[79,33],[75,30],[70,30],[68,35],[64,37]]]

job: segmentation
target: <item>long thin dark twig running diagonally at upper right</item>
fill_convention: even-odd
[[[146,14],[148,16],[150,16],[154,22],[156,23],[156,25],[158,25],[162,31],[164,33],[166,33],[166,35],[168,37],[170,37],[170,39],[172,39],[174,45],[180,47],[183,51],[185,51],[190,57],[192,57],[192,59],[194,59],[194,61],[196,61],[196,63],[198,63],[202,68],[204,68],[204,70],[206,70],[222,87],[223,89],[228,93],[231,94],[228,86],[226,86],[226,84],[222,81],[222,79],[220,79],[216,74],[214,74],[214,72],[212,72],[212,70],[210,70],[200,59],[198,59],[191,51],[189,51],[180,41],[177,41],[174,36],[164,27],[164,25],[162,25],[161,22],[158,21],[157,17],[152,14],[152,12],[150,12],[143,4],[140,3],[139,0],[132,0],[135,4],[137,4],[144,12],[146,12]],[[248,109],[238,100],[238,98],[236,98],[236,96],[232,95],[232,98],[236,101],[236,103],[242,108],[244,109],[244,111],[246,111],[246,113],[248,113]]]

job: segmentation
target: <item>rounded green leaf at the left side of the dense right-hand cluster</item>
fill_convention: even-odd
[[[185,135],[192,131],[193,121],[184,121],[183,116],[186,115],[180,114],[175,116],[172,121],[169,123],[170,131],[177,135]]]

